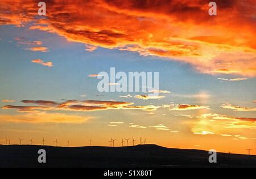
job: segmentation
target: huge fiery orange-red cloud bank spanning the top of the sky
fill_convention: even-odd
[[[69,41],[166,57],[201,73],[256,76],[255,1],[216,3],[218,15],[209,16],[208,2],[201,0],[53,0],[47,19],[38,19],[35,2],[3,0],[0,25],[30,22],[30,29]]]

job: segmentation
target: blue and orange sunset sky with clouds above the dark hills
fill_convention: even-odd
[[[0,144],[256,154],[256,2],[0,1]],[[159,72],[159,99],[97,90],[98,73]],[[131,140],[130,140],[131,144]]]

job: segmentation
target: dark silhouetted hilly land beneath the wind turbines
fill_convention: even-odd
[[[47,152],[47,163],[38,163],[38,150]],[[155,145],[135,147],[0,146],[0,167],[256,167],[256,156],[218,154],[209,164],[207,151],[179,150]]]

